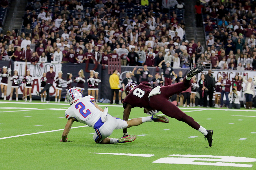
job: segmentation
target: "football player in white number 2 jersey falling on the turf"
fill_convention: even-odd
[[[82,93],[76,89],[71,88],[67,91],[67,101],[70,103],[70,108],[65,112],[65,117],[68,122],[65,126],[64,132],[61,136],[63,142],[67,141],[67,136],[74,121],[88,125],[95,129],[93,139],[96,143],[124,143],[132,142],[136,139],[135,135],[129,135],[118,139],[108,138],[114,129],[129,128],[131,126],[138,126],[144,122],[163,122],[168,123],[169,119],[165,116],[152,115],[148,117],[131,119],[124,121],[115,118],[108,114],[108,108],[104,110],[96,104],[94,97],[82,97]]]

